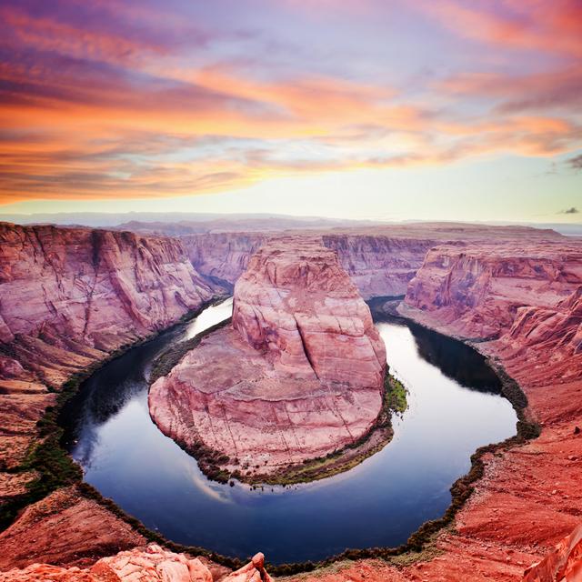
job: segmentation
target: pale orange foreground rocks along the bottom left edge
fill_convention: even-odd
[[[265,557],[257,554],[245,567],[221,577],[224,582],[270,582]],[[104,557],[92,567],[55,567],[33,564],[0,572],[0,581],[32,582],[213,582],[211,570],[199,558],[168,552],[156,544]]]

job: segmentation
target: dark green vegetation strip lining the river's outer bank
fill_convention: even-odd
[[[192,315],[190,315],[190,317],[191,316]],[[135,345],[145,343],[145,341],[138,342]],[[74,396],[83,380],[85,380],[85,377],[90,376],[98,367],[105,365],[107,361],[110,361],[126,351],[126,347],[129,346],[125,346],[125,348],[120,349],[118,353],[107,358],[105,362],[95,365],[90,370],[87,370],[84,375],[71,378],[69,382],[62,386],[60,393],[56,396],[55,405],[46,409],[45,416],[38,423],[39,439],[35,445],[31,447],[29,455],[26,457],[26,463],[22,467],[18,467],[18,470],[22,471],[29,471],[31,469],[37,471],[39,473],[39,478],[31,483],[28,494],[25,497],[22,497],[19,503],[8,507],[7,510],[6,505],[0,508],[0,512],[2,512],[0,516],[2,516],[3,519],[2,526],[5,527],[8,525],[8,523],[14,519],[16,512],[19,509],[45,497],[45,495],[48,495],[59,487],[65,487],[66,485],[75,483],[77,489],[84,497],[93,499],[103,507],[107,508],[115,514],[115,516],[123,519],[133,527],[137,533],[146,537],[146,539],[155,541],[171,551],[184,552],[193,556],[206,556],[216,563],[222,564],[226,567],[240,567],[242,561],[238,558],[221,556],[200,547],[188,547],[176,544],[166,540],[166,538],[160,534],[147,529],[141,522],[135,519],[135,517],[130,517],[125,514],[125,512],[120,507],[116,506],[112,500],[102,497],[93,487],[83,483],[80,467],[78,467],[65,450],[60,447],[59,440],[63,428],[58,425],[59,410],[64,406],[68,398]],[[406,544],[399,547],[347,549],[339,555],[328,557],[317,563],[302,562],[283,564],[279,566],[267,564],[269,573],[273,576],[290,576],[362,558],[379,558],[397,565],[402,564],[403,561],[409,563],[414,562],[417,559],[424,559],[427,556],[434,555],[437,551],[434,545],[434,540],[437,538],[437,535],[444,528],[453,527],[457,511],[463,507],[473,492],[478,479],[483,476],[485,467],[483,457],[489,453],[499,454],[511,447],[522,444],[527,439],[537,437],[539,434],[539,426],[537,426],[536,423],[531,422],[527,417],[527,397],[521,391],[521,388],[510,376],[507,375],[505,370],[497,366],[496,363],[490,362],[490,365],[496,369],[497,375],[502,382],[502,392],[504,396],[507,397],[517,411],[517,436],[508,438],[506,441],[497,445],[488,445],[487,447],[480,447],[477,449],[476,453],[471,457],[471,468],[467,475],[457,479],[457,482],[451,487],[452,502],[443,517],[426,522],[411,537],[409,537]],[[393,381],[388,375],[386,375],[386,382],[388,384],[385,392],[386,409],[393,412],[401,411],[403,405],[403,395],[401,392],[405,389],[404,386],[398,383],[397,380],[393,384]],[[385,406],[383,406],[383,410],[385,409]],[[392,412],[390,414],[392,414]],[[195,455],[197,454],[200,453],[195,453]],[[7,505],[10,506],[10,504]]]

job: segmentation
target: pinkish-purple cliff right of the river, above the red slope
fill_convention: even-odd
[[[526,316],[524,307],[553,313],[580,285],[582,246],[575,242],[436,246],[402,308],[416,308],[448,334],[483,340],[506,333],[519,309]]]

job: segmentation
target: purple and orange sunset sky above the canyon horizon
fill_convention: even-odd
[[[580,0],[0,0],[0,214],[582,222]]]

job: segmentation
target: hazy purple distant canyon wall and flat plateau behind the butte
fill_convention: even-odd
[[[234,286],[248,260],[267,240],[281,236],[321,236],[336,251],[341,265],[365,299],[403,296],[408,282],[423,264],[429,248],[456,241],[561,240],[551,230],[525,226],[481,226],[455,223],[334,228],[286,233],[220,232],[182,236],[196,270]]]

